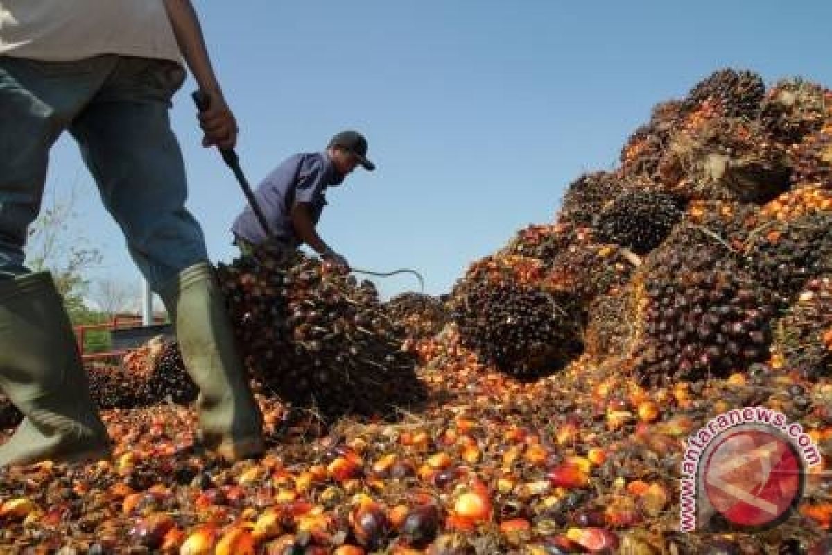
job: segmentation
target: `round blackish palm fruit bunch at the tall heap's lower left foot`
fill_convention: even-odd
[[[570,295],[481,281],[453,295],[462,343],[513,375],[551,372],[580,349],[582,315]]]

